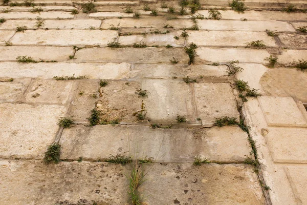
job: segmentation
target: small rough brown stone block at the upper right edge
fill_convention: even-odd
[[[296,33],[281,33],[279,36],[282,45],[288,49],[307,48],[307,35]]]

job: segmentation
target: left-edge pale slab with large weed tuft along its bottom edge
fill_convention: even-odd
[[[30,56],[34,60],[67,60],[73,55],[72,47],[6,46],[0,47],[0,61],[15,61],[18,56]]]

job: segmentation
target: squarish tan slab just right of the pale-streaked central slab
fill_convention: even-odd
[[[197,83],[194,84],[197,116],[203,125],[213,124],[215,118],[228,116],[239,120],[236,100],[230,84]]]

